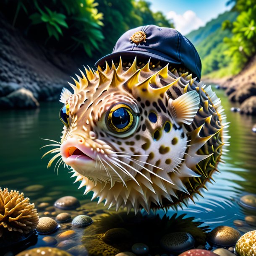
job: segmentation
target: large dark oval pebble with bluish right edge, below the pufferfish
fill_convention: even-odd
[[[182,253],[193,248],[195,240],[189,233],[174,232],[164,235],[160,240],[160,244],[167,251]]]

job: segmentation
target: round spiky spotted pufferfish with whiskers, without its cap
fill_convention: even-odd
[[[162,63],[106,62],[63,89],[56,153],[92,199],[137,213],[187,204],[217,171],[227,123],[210,85]],[[48,152],[47,152],[48,153]],[[46,153],[46,154],[47,154]]]

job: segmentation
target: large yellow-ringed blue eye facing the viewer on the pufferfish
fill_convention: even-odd
[[[107,114],[107,126],[115,133],[125,133],[130,131],[138,121],[136,114],[131,107],[126,104],[113,106]]]

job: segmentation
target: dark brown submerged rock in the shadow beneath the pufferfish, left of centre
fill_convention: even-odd
[[[102,239],[105,243],[113,244],[115,242],[130,239],[132,234],[125,228],[112,228],[107,230],[103,235]]]

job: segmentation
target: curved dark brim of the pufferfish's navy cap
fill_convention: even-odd
[[[177,65],[182,64],[181,62],[178,62],[177,60],[171,59],[170,57],[165,58],[165,57],[159,56],[159,55],[151,53],[151,52],[123,51],[123,52],[110,53],[110,54],[102,57],[101,59],[99,59],[95,63],[95,67],[98,67],[98,65],[104,65],[105,61],[109,61],[109,60],[115,59],[116,57],[119,57],[119,56],[121,56],[121,57],[122,56],[125,56],[125,57],[133,56],[134,57],[135,55],[142,56],[142,57],[152,57],[154,59],[162,60],[162,61],[165,61],[165,62],[168,62],[168,63],[171,63],[171,64],[177,64]]]

